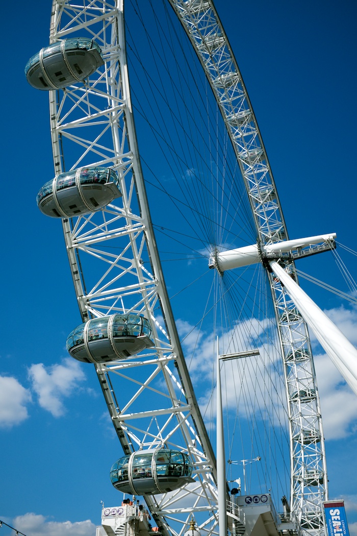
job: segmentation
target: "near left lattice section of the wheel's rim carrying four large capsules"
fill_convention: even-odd
[[[210,534],[218,523],[215,458],[173,323],[136,158],[122,7],[99,0],[82,7],[53,4],[50,41],[89,34],[105,60],[84,85],[50,92],[55,172],[110,165],[123,193],[117,205],[64,219],[65,242],[83,321],[134,312],[153,327],[155,346],[139,358],[96,366],[125,453],[166,445],[193,461],[194,482],[147,496],[151,513],[164,534],[183,533],[192,515],[202,533]],[[119,392],[112,386],[117,379]]]

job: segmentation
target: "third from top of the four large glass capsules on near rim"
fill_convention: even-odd
[[[103,316],[76,327],[67,338],[67,350],[85,363],[117,361],[154,346],[150,336],[150,324],[142,316]]]

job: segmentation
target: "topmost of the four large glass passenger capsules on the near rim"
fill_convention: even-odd
[[[37,90],[58,90],[84,80],[103,63],[101,48],[93,39],[70,38],[32,56],[25,75]]]

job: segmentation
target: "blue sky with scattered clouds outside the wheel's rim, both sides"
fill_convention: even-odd
[[[2,10],[0,519],[28,536],[57,536],[63,523],[70,534],[87,536],[100,523],[100,501],[120,500],[108,474],[121,449],[94,369],[66,354],[67,334],[80,318],[62,230],[35,203],[53,173],[48,99],[27,85],[24,66],[48,42],[51,3],[17,5],[16,13],[10,3]],[[217,0],[216,8],[253,104],[290,236],[336,232],[356,250],[355,3],[232,6]],[[356,274],[353,257],[351,263]],[[333,285],[323,256],[301,267],[309,269]],[[357,310],[304,285],[356,345]],[[316,354],[330,498],[345,498],[356,535],[357,400],[322,351]]]

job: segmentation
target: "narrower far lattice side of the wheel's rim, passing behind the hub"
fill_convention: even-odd
[[[221,108],[237,154],[257,229],[257,242],[287,239],[274,178],[252,106],[217,13],[208,0],[170,0],[197,51]],[[294,265],[285,269],[297,279]],[[308,331],[294,303],[271,273],[280,343],[285,363],[290,414],[292,486],[291,509],[309,534],[324,532],[322,501],[327,474],[320,404]],[[309,393],[305,396],[304,393]]]

